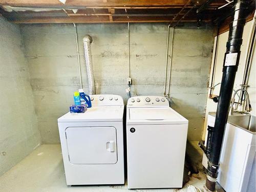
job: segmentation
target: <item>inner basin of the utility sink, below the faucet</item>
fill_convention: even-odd
[[[209,115],[216,117],[216,112],[209,112]],[[227,122],[255,134],[255,116],[253,115],[233,113],[228,116]]]

